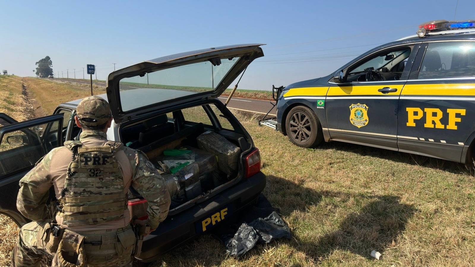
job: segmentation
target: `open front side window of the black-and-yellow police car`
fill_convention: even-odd
[[[411,54],[411,47],[398,48],[397,50],[388,50],[381,52],[365,61],[352,66],[348,71],[348,81],[350,82],[369,82],[374,80],[399,80],[407,60]],[[372,70],[377,71],[383,76],[380,79],[369,79],[366,74]],[[371,78],[371,76],[370,76]]]

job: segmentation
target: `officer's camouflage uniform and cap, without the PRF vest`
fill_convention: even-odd
[[[77,107],[77,116],[81,124],[90,126],[104,124],[111,117],[109,105],[98,97],[88,97],[81,101]],[[111,143],[106,139],[104,132],[92,130],[83,131],[79,140],[85,149],[104,147],[107,143]],[[66,145],[70,146],[71,143],[74,142]],[[164,186],[164,180],[145,154],[128,147],[120,145],[117,147],[114,160],[121,171],[123,182],[120,189],[125,195],[132,186],[148,200],[148,224],[151,229],[156,229],[166,218],[170,207],[170,195]],[[61,202],[65,196],[64,192],[67,192],[66,179],[70,182],[80,179],[70,175],[71,169],[68,167],[71,162],[71,151],[67,147],[55,148],[20,180],[17,209],[33,222],[20,229],[17,245],[11,255],[13,266],[39,266],[41,255],[53,257],[53,266],[67,266],[61,262],[61,255],[58,255],[61,253],[56,253],[56,248],[51,249],[51,218],[48,218],[50,212],[46,202],[51,186],[54,186],[56,198]],[[110,185],[105,182],[103,184],[104,188]],[[83,208],[83,205],[80,208]],[[89,220],[89,223],[81,225],[68,223],[62,212],[57,212],[55,219],[57,224],[65,229],[59,246],[68,248],[67,251],[75,251],[80,256],[79,259],[85,256],[87,266],[131,265],[135,237],[130,228],[131,218],[125,207],[123,214],[115,216],[113,220],[103,220],[105,222]],[[93,245],[94,242],[100,245]],[[49,252],[50,250],[53,251]],[[81,266],[80,263],[79,260],[77,266]]]

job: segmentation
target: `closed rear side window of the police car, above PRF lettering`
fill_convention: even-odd
[[[475,76],[475,42],[429,43],[418,79]]]

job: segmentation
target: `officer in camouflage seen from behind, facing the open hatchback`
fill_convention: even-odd
[[[86,97],[75,120],[82,128],[79,141],[51,150],[20,180],[17,208],[33,221],[20,229],[13,266],[39,266],[42,255],[53,257],[52,266],[131,266],[136,242],[127,210],[131,185],[148,200],[152,230],[167,217],[170,195],[146,155],[106,139],[109,104]],[[46,205],[51,187],[54,212]]]

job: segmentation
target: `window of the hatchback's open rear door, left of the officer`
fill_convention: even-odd
[[[33,166],[58,146],[58,126],[57,120],[0,134],[0,179]]]

